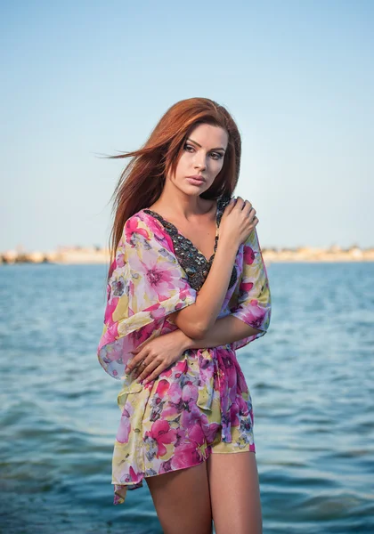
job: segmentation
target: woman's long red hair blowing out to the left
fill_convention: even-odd
[[[224,193],[232,195],[239,178],[241,155],[240,133],[232,116],[223,106],[208,98],[189,98],[176,102],[160,118],[141,149],[108,157],[132,158],[110,198],[110,201],[113,200],[114,218],[110,231],[110,265],[126,220],[156,202],[167,174],[175,174],[184,143],[195,126],[201,123],[221,126],[226,130],[229,141],[223,168],[215,177],[215,182],[200,196],[215,199]]]

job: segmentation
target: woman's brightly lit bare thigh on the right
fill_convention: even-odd
[[[254,452],[215,453],[207,458],[216,534],[261,534],[262,514]]]

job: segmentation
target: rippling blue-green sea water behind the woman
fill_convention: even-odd
[[[374,263],[272,263],[272,324],[238,351],[264,534],[374,532]],[[159,534],[113,506],[120,383],[96,360],[104,265],[0,268],[1,532]]]

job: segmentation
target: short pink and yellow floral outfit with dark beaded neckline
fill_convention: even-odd
[[[217,201],[215,249],[229,201]],[[259,332],[232,344],[188,349],[149,384],[125,372],[131,351],[177,329],[170,315],[195,303],[213,260],[150,209],[126,221],[110,265],[97,352],[102,368],[123,380],[113,453],[114,504],[124,502],[127,489],[140,488],[144,477],[199,464],[218,442],[255,451],[251,398],[235,351],[264,336],[271,319],[256,229],[238,249],[217,319],[231,314]]]

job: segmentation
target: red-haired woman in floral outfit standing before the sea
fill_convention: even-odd
[[[271,317],[240,134],[204,98],[167,110],[115,190],[102,367],[124,379],[114,504],[147,482],[166,534],[262,531],[251,397],[235,351]],[[238,454],[237,454],[238,453]],[[240,454],[239,454],[240,453]]]

